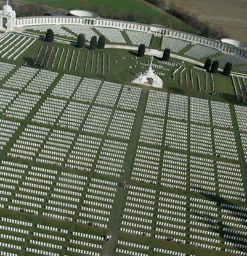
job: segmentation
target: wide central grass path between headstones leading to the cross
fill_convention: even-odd
[[[147,102],[147,96],[148,96],[149,88],[143,88],[142,95],[140,96],[140,102],[139,107],[137,109],[136,119],[134,122],[128,151],[126,153],[126,158],[123,164],[124,174],[122,176],[122,181],[126,181],[127,183],[130,181],[130,174],[131,174],[131,167],[132,167],[132,161],[134,161],[133,156],[137,147],[139,132],[140,132],[140,124],[142,124],[142,120],[144,118],[144,109],[145,104]],[[111,220],[110,224],[108,226],[108,235],[111,235],[111,241],[106,242],[103,251],[102,256],[108,256],[111,255],[113,252],[113,249],[116,245],[116,241],[118,241],[118,229],[119,229],[119,222],[121,215],[123,214],[123,208],[124,208],[124,201],[126,197],[126,189],[122,189],[121,183],[118,187],[118,192],[116,193],[115,203],[113,205],[113,211],[111,213]]]

